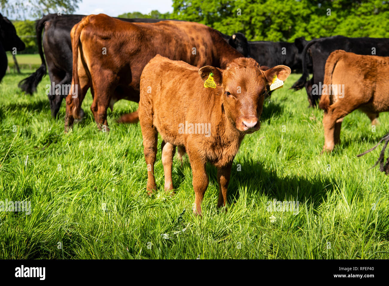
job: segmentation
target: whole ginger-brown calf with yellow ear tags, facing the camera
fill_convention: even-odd
[[[225,70],[200,68],[157,55],[140,78],[139,120],[147,164],[147,191],[156,189],[154,163],[158,132],[163,138],[162,163],[165,190],[171,191],[175,146],[186,151],[195,190],[194,212],[208,186],[207,162],[217,168],[221,207],[227,203],[232,161],[245,134],[259,129],[259,116],[266,89],[277,77],[284,81],[291,69],[279,65],[262,71],[252,58],[237,58]],[[213,73],[215,88],[205,88]],[[200,75],[200,76],[199,76]]]

